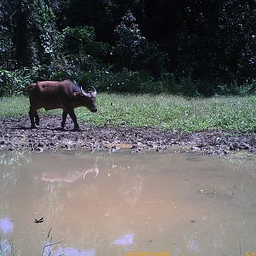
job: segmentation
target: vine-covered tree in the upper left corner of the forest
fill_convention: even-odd
[[[18,67],[49,64],[55,59],[56,27],[55,14],[47,0],[3,0],[0,15],[1,34],[7,45],[3,52],[14,52]],[[6,44],[8,41],[9,44]]]

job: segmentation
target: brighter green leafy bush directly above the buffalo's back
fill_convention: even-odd
[[[58,34],[61,57],[52,61],[49,79],[71,79],[86,82],[84,73],[96,72],[104,65],[102,58],[108,52],[108,44],[96,42],[92,26],[67,26]]]

